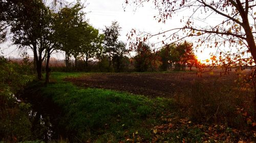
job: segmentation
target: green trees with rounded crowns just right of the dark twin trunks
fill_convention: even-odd
[[[75,70],[77,70],[79,59],[83,60],[88,68],[89,60],[102,54],[104,36],[84,20],[83,8],[77,2],[72,7],[62,8],[55,17],[57,40],[60,42],[60,49],[66,53],[67,70],[70,70],[71,55],[74,56]]]

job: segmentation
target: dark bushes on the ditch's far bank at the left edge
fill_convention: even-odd
[[[15,94],[30,81],[27,66],[20,66],[0,56],[0,136],[4,141],[32,139],[28,118],[30,104],[17,100]]]

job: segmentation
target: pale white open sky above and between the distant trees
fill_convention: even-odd
[[[68,2],[76,2],[68,0]],[[168,20],[165,24],[159,23],[154,19],[154,16],[158,14],[158,10],[154,9],[154,5],[151,3],[145,3],[143,7],[137,8],[135,11],[134,7],[126,6],[124,0],[87,0],[81,1],[86,5],[84,12],[86,12],[86,19],[89,19],[89,23],[100,31],[104,29],[105,26],[110,26],[112,21],[118,21],[121,29],[121,35],[119,40],[126,42],[127,33],[130,33],[133,28],[141,32],[149,32],[152,34],[157,34],[161,31],[168,30],[170,28],[175,28],[180,26],[180,19],[182,16],[187,16],[189,11],[185,11],[176,15],[175,19]],[[124,11],[125,6],[125,11]],[[218,21],[218,17],[212,17],[212,21]],[[216,20],[217,19],[217,20]],[[204,22],[204,24],[207,24]],[[11,42],[8,41],[2,44],[1,51],[5,56],[18,56],[20,53],[15,45],[11,46]],[[32,56],[32,52],[29,51]],[[208,57],[209,51],[204,51],[203,53],[196,53],[201,59],[206,59]],[[53,55],[54,58],[64,59],[63,53],[56,53]]]

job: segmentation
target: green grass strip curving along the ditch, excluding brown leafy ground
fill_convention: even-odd
[[[159,124],[163,112],[170,112],[172,99],[150,99],[140,95],[102,89],[82,89],[65,77],[79,77],[83,73],[52,73],[56,82],[41,87],[42,94],[51,97],[62,108],[65,117],[61,124],[82,141],[98,142],[133,138],[151,140],[152,128]]]

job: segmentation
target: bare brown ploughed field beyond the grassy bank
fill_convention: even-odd
[[[184,73],[95,73],[80,78],[67,78],[80,87],[126,91],[149,97],[172,97],[176,92],[189,90],[200,81],[209,86],[231,85],[236,74],[220,76],[219,71],[199,77],[194,72]],[[213,87],[214,88],[214,87]]]

